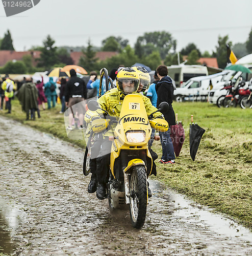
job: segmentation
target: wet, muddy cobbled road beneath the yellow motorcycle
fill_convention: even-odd
[[[252,255],[252,233],[150,181],[146,221],[111,214],[86,191],[83,151],[0,118],[0,253],[16,255]]]

